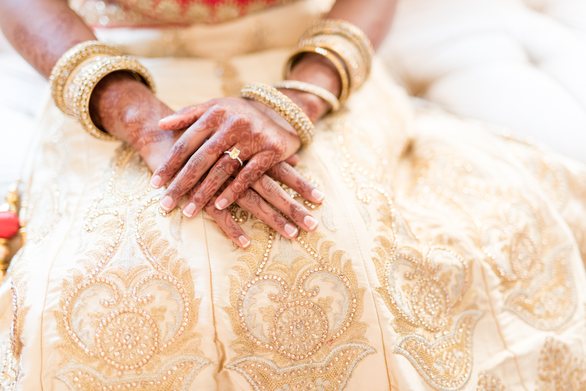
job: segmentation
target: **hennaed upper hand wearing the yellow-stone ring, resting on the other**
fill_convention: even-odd
[[[175,208],[209,170],[183,207],[183,214],[187,217],[197,215],[220,186],[240,168],[240,162],[224,152],[237,148],[240,150],[239,158],[248,162],[217,196],[217,209],[224,209],[234,202],[271,166],[290,157],[300,145],[297,133],[280,115],[263,104],[242,98],[220,98],[182,108],[176,114],[163,118],[159,126],[165,130],[189,126],[151,179],[151,185],[159,188],[176,175],[163,195],[162,209]],[[295,185],[299,178],[290,180]],[[323,194],[315,188],[312,190],[313,194],[308,192],[303,196],[311,202],[321,202]],[[268,201],[272,203],[272,200]],[[275,207],[278,208],[277,205]],[[289,210],[291,208],[294,206],[287,205],[287,208],[280,210],[299,226],[311,230],[312,225],[304,223],[304,216],[295,216]],[[277,230],[282,232],[282,227]],[[288,236],[291,237],[290,234]]]

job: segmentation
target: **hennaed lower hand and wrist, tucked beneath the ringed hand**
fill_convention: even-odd
[[[90,105],[94,123],[101,128],[105,128],[110,134],[116,135],[121,140],[131,144],[137,149],[151,170],[156,169],[161,164],[175,141],[183,134],[183,130],[166,131],[159,128],[158,121],[162,117],[172,114],[173,111],[130,74],[117,72],[104,78],[94,90]],[[292,161],[292,159],[294,157],[289,158],[288,161]],[[292,189],[311,199],[307,195],[315,190],[315,186],[300,176],[291,166],[285,165],[283,162],[271,168],[268,174],[271,174],[275,179],[281,179],[284,183],[289,183]],[[253,189],[258,189],[260,193],[270,198],[274,205],[280,205],[282,209],[288,206],[288,215],[302,216],[304,218],[309,214],[305,208],[298,205],[286,193],[286,197],[283,198],[284,191],[267,175],[261,176],[253,185]],[[278,232],[287,234],[285,230],[285,225],[287,224],[289,224],[287,226],[289,232],[291,232],[291,227],[296,230],[294,226],[287,222],[285,217],[272,209],[253,189],[248,189],[237,200],[243,209],[260,217],[271,226],[279,226]],[[192,192],[196,190],[197,186]],[[314,192],[315,194],[321,193]],[[320,197],[323,198],[321,195],[318,195],[317,198]],[[281,198],[281,203],[278,198]],[[215,200],[216,196],[207,203],[205,206],[206,211],[216,220],[220,228],[226,232],[234,243],[240,247],[248,246],[250,240],[240,225],[234,221],[230,210],[217,209],[214,206]],[[298,221],[298,218],[295,221]],[[314,225],[316,226],[316,223],[316,221],[309,222],[304,227],[311,228]]]

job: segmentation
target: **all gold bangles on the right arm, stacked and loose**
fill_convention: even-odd
[[[304,53],[317,53],[326,57],[338,70],[340,94],[299,80],[283,80],[274,87],[266,84],[247,84],[241,90],[243,98],[264,103],[277,111],[295,128],[301,140],[301,147],[308,147],[315,134],[314,124],[307,115],[285,94],[277,89],[292,89],[314,94],[331,104],[332,111],[338,111],[351,93],[362,86],[370,74],[370,64],[374,49],[366,34],[350,22],[336,19],[322,19],[305,32],[294,53],[285,64],[284,78],[288,79],[291,70]]]

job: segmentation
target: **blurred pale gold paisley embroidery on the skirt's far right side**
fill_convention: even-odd
[[[502,308],[535,328],[562,327],[577,305],[572,249],[568,238],[546,223],[543,208],[532,206],[518,189],[477,180],[472,164],[449,150],[436,148],[418,161],[423,162],[414,185],[418,201],[427,205],[443,198],[459,209],[454,218],[468,219],[471,239],[500,278]]]

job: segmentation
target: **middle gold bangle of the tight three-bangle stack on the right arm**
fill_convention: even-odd
[[[366,64],[360,50],[350,40],[341,35],[314,35],[301,41],[301,45],[324,47],[335,52],[346,64],[349,79],[348,95],[360,88],[366,80]]]

